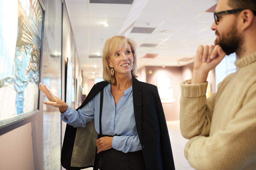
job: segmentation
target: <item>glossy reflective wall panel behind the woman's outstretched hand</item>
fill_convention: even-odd
[[[52,93],[61,98],[61,42],[62,42],[62,1],[45,0],[44,24],[44,82]],[[44,95],[44,100],[47,100]],[[61,120],[58,108],[43,105],[44,129],[44,170],[60,169]]]

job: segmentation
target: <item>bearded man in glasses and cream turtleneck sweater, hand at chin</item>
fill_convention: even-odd
[[[256,1],[220,0],[211,29],[215,46],[199,46],[191,80],[181,83],[184,154],[205,170],[256,168]],[[236,52],[238,71],[206,99],[208,72]]]

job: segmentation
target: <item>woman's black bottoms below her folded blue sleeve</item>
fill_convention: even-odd
[[[142,150],[136,152],[108,149],[101,151],[100,170],[144,170],[146,169]]]

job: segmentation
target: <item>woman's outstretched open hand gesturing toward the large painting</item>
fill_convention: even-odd
[[[42,83],[39,83],[39,89],[45,94],[45,96],[49,100],[45,100],[44,104],[58,107],[61,113],[66,112],[66,110],[68,109],[68,105],[64,101],[53,95],[52,91],[46,85],[42,85]]]

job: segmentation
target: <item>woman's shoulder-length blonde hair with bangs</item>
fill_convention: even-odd
[[[121,50],[123,47],[126,47],[127,44],[131,46],[132,55],[133,55],[133,65],[134,70],[131,72],[133,77],[137,76],[137,54],[136,54],[136,43],[130,38],[126,38],[124,35],[117,35],[110,37],[104,45],[102,51],[102,64],[103,64],[103,79],[112,84],[116,84],[116,78],[111,77],[111,67],[108,65],[110,56],[115,52]]]

